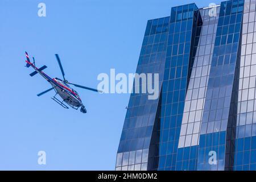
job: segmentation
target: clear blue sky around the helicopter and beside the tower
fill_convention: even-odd
[[[38,3],[47,16],[38,16]],[[24,51],[36,65],[60,77],[59,53],[67,80],[97,87],[97,75],[134,73],[148,19],[169,16],[171,7],[195,2],[171,0],[0,1],[0,169],[113,170],[129,94],[76,89],[87,114],[65,110],[39,75],[30,77]],[[39,166],[38,151],[47,165]]]

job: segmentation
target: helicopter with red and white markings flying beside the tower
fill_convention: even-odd
[[[43,65],[43,67],[37,68],[36,65],[35,65],[35,58],[32,57],[33,63],[31,63],[30,57],[28,56],[28,53],[27,52],[25,52],[25,53],[26,53],[26,58],[27,58],[27,60],[26,60],[27,64],[25,65],[25,67],[27,67],[27,68],[32,67],[32,68],[35,69],[34,72],[30,73],[30,76],[32,77],[32,76],[35,76],[37,73],[39,73],[41,76],[43,76],[43,78],[45,78],[49,82],[49,84],[52,85],[52,88],[37,94],[38,97],[42,96],[43,94],[45,94],[45,93],[47,93],[51,90],[55,90],[56,94],[55,94],[55,96],[52,97],[52,100],[57,102],[57,104],[61,105],[65,109],[69,109],[68,106],[72,107],[75,110],[78,110],[81,107],[80,108],[81,113],[87,113],[87,110],[85,109],[85,106],[82,104],[82,100],[81,100],[79,94],[76,92],[76,90],[71,88],[71,86],[69,86],[69,85],[74,85],[78,88],[91,90],[93,92],[102,93],[101,90],[89,88],[87,86],[72,84],[71,82],[68,82],[68,80],[65,79],[64,69],[62,67],[60,57],[59,57],[58,54],[55,54],[55,56],[56,56],[57,62],[59,63],[59,67],[60,67],[60,71],[61,71],[62,76],[63,76],[63,80],[61,80],[60,78],[57,78],[57,77],[56,78],[51,78],[48,75],[46,75],[46,73],[44,73],[43,70],[46,69],[47,66]],[[56,97],[58,95],[60,96],[62,101],[60,101],[59,98]]]

